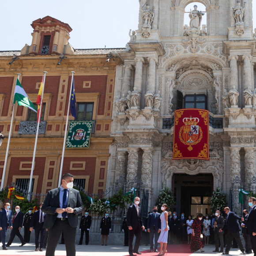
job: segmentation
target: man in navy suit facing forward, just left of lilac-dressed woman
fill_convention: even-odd
[[[153,239],[154,239],[154,252],[158,252],[158,233],[161,231],[160,213],[157,212],[157,206],[153,207],[153,212],[147,218],[147,232],[149,232],[150,251],[153,252]]]

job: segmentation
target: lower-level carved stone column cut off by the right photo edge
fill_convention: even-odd
[[[252,181],[255,174],[255,147],[244,147],[245,149],[245,185]]]

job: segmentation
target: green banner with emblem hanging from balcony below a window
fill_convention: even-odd
[[[94,121],[70,121],[66,148],[89,148]]]

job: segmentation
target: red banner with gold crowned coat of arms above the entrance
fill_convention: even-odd
[[[178,109],[174,113],[173,160],[209,160],[209,111]]]

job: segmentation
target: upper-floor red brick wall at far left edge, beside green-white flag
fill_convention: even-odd
[[[0,93],[5,94],[6,97],[4,98],[4,104],[3,104],[3,109],[1,116],[2,117],[7,117],[8,115],[8,108],[9,105],[12,104],[11,99],[11,88],[13,84],[13,79],[14,77],[0,77]]]

